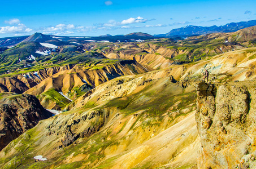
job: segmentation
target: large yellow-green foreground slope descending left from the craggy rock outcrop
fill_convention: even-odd
[[[70,112],[41,121],[12,141],[0,153],[2,167],[196,166],[196,92],[172,81],[168,70],[161,70],[97,86],[92,95],[77,99],[81,103],[70,106]],[[182,156],[189,151],[194,154],[184,161]],[[49,160],[34,162],[36,155]]]

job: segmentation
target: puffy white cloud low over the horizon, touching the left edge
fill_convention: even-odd
[[[0,27],[0,33],[28,33],[31,32],[32,29],[27,28],[24,24],[18,24],[17,26],[3,26]]]

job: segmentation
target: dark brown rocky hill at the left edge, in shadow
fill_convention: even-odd
[[[5,96],[0,100],[0,150],[52,114],[32,95]]]

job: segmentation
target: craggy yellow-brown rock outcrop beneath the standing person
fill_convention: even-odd
[[[253,85],[254,82],[196,84],[199,168],[256,167]]]

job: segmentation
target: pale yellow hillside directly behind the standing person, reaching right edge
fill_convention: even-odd
[[[249,80],[255,78],[256,48],[246,48],[217,55],[190,66],[184,78],[202,77],[205,69],[210,72],[212,82]]]

